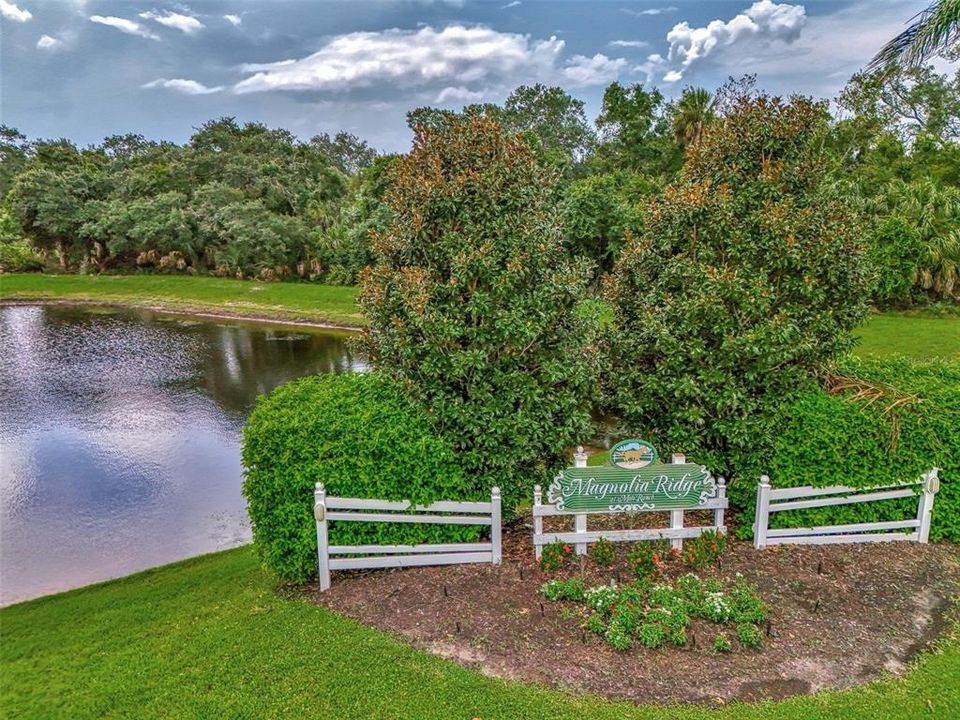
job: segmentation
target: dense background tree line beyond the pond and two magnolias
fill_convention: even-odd
[[[556,175],[565,252],[609,273],[684,159],[721,127],[752,77],[715,92],[610,85],[590,122],[562,88],[523,86],[502,105],[417,108],[415,132],[482,117],[520,136]],[[832,192],[859,221],[876,304],[960,294],[960,72],[932,66],[855,75],[805,122],[822,128]],[[0,127],[0,266],[180,272],[353,284],[394,210],[400,156],[348,133],[302,141],[233,118],[178,145],[130,134],[78,148]],[[818,161],[819,161],[818,160]],[[736,165],[737,158],[731,158]]]

